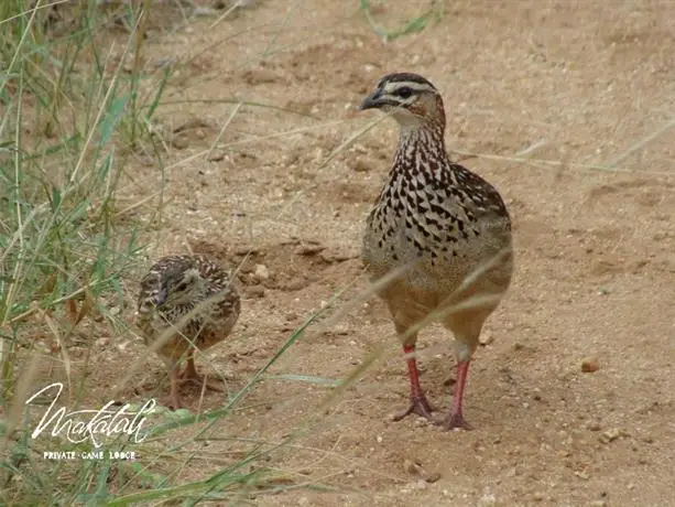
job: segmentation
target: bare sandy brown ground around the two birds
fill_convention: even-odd
[[[428,8],[403,3],[382,2],[377,21],[401,26]],[[274,443],[312,423],[266,464],[290,484],[333,489],[250,501],[675,505],[675,139],[665,129],[675,111],[675,3],[459,0],[388,43],[356,1],[259,1],[214,21],[155,34],[145,47],[149,68],[184,62],[165,96],[175,104],[160,109],[164,132],[181,132],[166,153],[168,204],[152,257],[192,249],[228,267],[243,261],[240,321],[200,365],[241,387],[342,289],[331,311],[341,315],[312,325],[271,373],[340,379],[387,352],[327,406],[325,386],[269,379],[214,428]],[[394,71],[437,86],[448,148],[478,155],[464,163],[499,188],[514,220],[515,278],[469,374],[471,432],[391,421],[409,389],[393,326],[381,302],[350,303],[368,288],[361,231],[396,126],[383,121],[340,147],[377,118],[355,108]],[[161,180],[139,160],[120,207]],[[150,203],[134,213],[153,218]],[[423,386],[446,410],[451,338],[432,326],[420,342]],[[139,357],[140,384],[163,379],[160,360],[131,336],[95,354],[101,399],[119,365]],[[588,357],[598,371],[581,371]],[[149,395],[129,387],[127,396]],[[196,396],[186,399],[198,409]],[[222,401],[208,393],[203,408]],[[231,449],[208,447],[211,456]],[[218,466],[205,460],[179,481]]]

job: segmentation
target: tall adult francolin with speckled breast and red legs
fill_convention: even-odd
[[[411,73],[380,79],[360,108],[381,109],[400,125],[393,165],[368,216],[362,258],[389,306],[406,354],[410,413],[432,419],[415,363],[418,328],[439,321],[455,335],[457,380],[449,414],[438,424],[470,429],[462,413],[469,363],[486,319],[513,271],[511,219],[497,190],[449,160],[438,90]]]

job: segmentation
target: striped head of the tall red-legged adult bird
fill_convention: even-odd
[[[443,99],[438,90],[424,77],[412,73],[389,74],[382,77],[359,110],[381,109],[390,114],[401,127],[417,127],[428,122],[445,126]]]

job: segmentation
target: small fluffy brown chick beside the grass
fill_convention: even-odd
[[[141,281],[135,322],[145,344],[168,369],[174,409],[182,407],[178,388],[183,382],[204,382],[195,368],[195,348],[205,350],[224,341],[240,309],[239,293],[229,274],[203,256],[164,257]],[[190,312],[194,314],[186,317]],[[187,363],[178,371],[184,355]],[[221,390],[208,382],[206,387]]]

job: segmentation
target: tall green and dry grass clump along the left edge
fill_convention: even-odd
[[[46,505],[47,497],[69,505],[110,466],[85,466],[64,481],[63,467],[40,466],[22,431],[41,338],[61,355],[73,393],[86,389],[69,377],[73,331],[92,315],[112,332],[123,327],[108,309],[121,308],[122,277],[143,245],[118,190],[130,158],[162,162],[149,126],[167,75],[150,80],[140,64],[150,2],[126,7],[131,31],[117,42],[101,30],[97,3],[62,3],[66,19],[54,21],[46,1],[0,2],[3,505]]]

